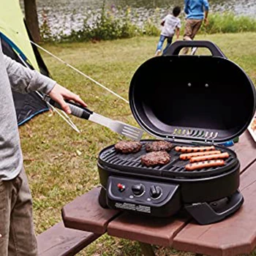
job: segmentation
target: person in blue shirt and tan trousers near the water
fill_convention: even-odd
[[[203,23],[208,24],[208,0],[185,0],[184,12],[186,13],[186,25],[184,40],[195,38],[197,31]],[[184,48],[183,53],[187,54],[189,48]]]

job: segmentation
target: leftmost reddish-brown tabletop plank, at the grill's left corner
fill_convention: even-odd
[[[62,219],[65,227],[103,234],[108,223],[118,216],[119,211],[99,206],[99,188],[75,198],[62,208]]]

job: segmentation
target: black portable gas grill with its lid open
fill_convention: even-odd
[[[178,56],[181,48],[203,47],[212,56]],[[114,146],[99,153],[99,203],[137,214],[170,217],[181,209],[201,225],[218,222],[240,208],[240,163],[218,146],[241,135],[255,113],[255,87],[246,73],[212,42],[179,41],[166,56],[149,59],[132,78],[129,103],[146,132],[173,143],[170,163],[146,167],[141,151],[120,154]],[[209,146],[228,152],[222,167],[187,171],[175,146]]]

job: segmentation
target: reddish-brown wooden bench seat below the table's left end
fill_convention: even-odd
[[[72,256],[100,235],[64,227],[63,222],[37,236],[39,256]]]

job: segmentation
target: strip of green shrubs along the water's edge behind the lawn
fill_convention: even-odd
[[[62,31],[53,36],[48,26],[47,15],[43,13],[43,22],[40,28],[42,39],[45,41],[61,42],[86,42],[89,40],[112,40],[129,38],[136,36],[159,36],[159,9],[154,11],[152,18],[146,20],[143,25],[136,25],[136,13],[131,14],[131,9],[119,10],[119,15],[108,12],[105,9],[103,1],[100,13],[91,13],[91,17],[83,20],[83,28],[70,34],[64,34]],[[91,23],[89,19],[92,18]],[[181,35],[184,32],[184,20],[181,28]],[[208,26],[202,26],[200,33],[238,33],[246,31],[256,31],[256,19],[246,16],[236,16],[232,12],[214,13],[209,16]]]

